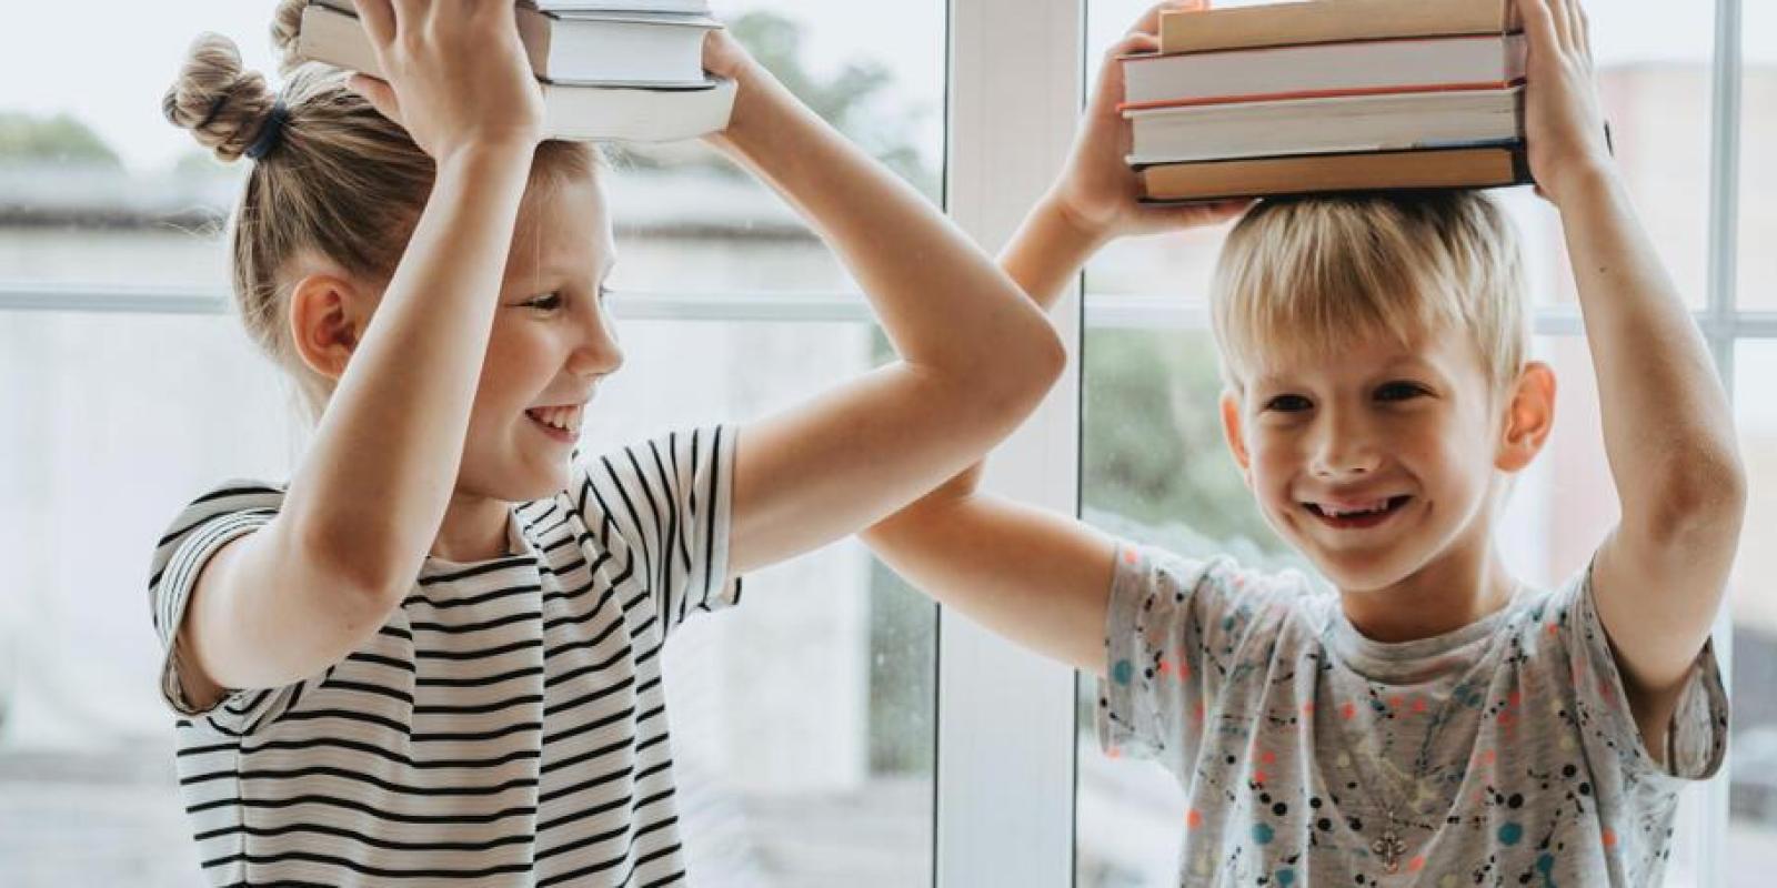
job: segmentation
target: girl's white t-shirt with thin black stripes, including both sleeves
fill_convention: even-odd
[[[160,540],[149,579],[178,776],[211,884],[684,881],[661,646],[739,600],[727,577],[734,430],[574,458],[517,504],[508,552],[426,559],[345,661],[188,705],[174,645],[204,561],[272,520],[231,481]]]

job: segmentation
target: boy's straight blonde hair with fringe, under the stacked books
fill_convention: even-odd
[[[1491,391],[1505,392],[1528,350],[1523,300],[1518,233],[1480,192],[1263,201],[1228,234],[1210,295],[1237,394],[1279,348],[1443,330],[1470,336]]]

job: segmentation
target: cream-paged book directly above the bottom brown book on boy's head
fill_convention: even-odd
[[[1130,165],[1523,139],[1525,87],[1137,108]]]

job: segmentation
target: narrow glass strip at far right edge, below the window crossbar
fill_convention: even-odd
[[[1733,755],[1729,765],[1729,884],[1763,884],[1777,863],[1777,607],[1768,591],[1777,570],[1777,343],[1734,350],[1734,419],[1752,499],[1740,558],[1729,581],[1734,622]],[[1763,384],[1763,385],[1761,385]]]

